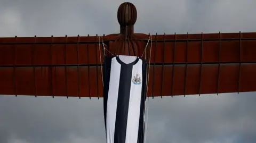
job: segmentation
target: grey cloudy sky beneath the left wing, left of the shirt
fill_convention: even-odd
[[[3,96],[1,129],[29,142],[65,142],[75,136],[104,139],[102,100]],[[4,130],[4,131],[5,131]],[[71,136],[71,137],[70,137]]]

